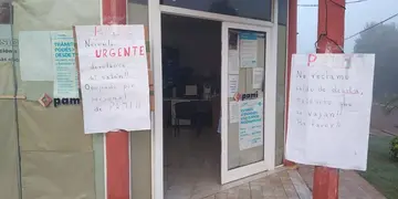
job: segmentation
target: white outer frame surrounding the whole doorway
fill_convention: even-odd
[[[163,66],[161,66],[161,13],[168,13],[181,17],[191,17],[198,19],[208,19],[221,22],[232,22],[247,25],[270,28],[271,38],[271,64],[272,80],[276,84],[276,50],[277,50],[277,0],[272,0],[272,19],[273,21],[262,21],[247,19],[233,15],[210,13],[184,8],[161,6],[159,0],[148,0],[148,23],[149,23],[149,44],[150,44],[150,70],[154,73],[154,95],[155,112],[153,113],[151,128],[151,198],[164,199],[164,122],[163,122]],[[276,86],[265,84],[265,90],[276,92]],[[273,105],[272,105],[273,103]],[[275,107],[276,98],[271,102]],[[270,111],[270,109],[268,109]],[[275,109],[273,113],[273,123],[275,124]],[[275,133],[275,129],[273,129]],[[274,149],[275,150],[275,149]],[[274,158],[272,160],[274,163]],[[272,165],[270,163],[270,165]],[[273,164],[274,165],[274,164]],[[271,169],[271,168],[270,168]]]

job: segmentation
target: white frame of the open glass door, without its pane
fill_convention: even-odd
[[[255,31],[265,33],[265,81],[264,85],[264,105],[263,105],[263,159],[258,163],[253,163],[239,168],[228,169],[228,128],[229,128],[229,30],[242,30],[242,31]],[[272,87],[276,87],[276,78],[273,80],[275,74],[272,73],[272,29],[259,25],[249,25],[241,23],[222,22],[221,29],[221,184],[228,184],[234,180],[239,180],[262,171],[271,170],[275,167],[275,124],[272,117],[275,117],[275,101],[276,93],[272,91]],[[272,87],[270,86],[272,85]]]

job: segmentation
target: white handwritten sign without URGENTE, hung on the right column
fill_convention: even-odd
[[[286,159],[366,170],[374,54],[295,54]]]

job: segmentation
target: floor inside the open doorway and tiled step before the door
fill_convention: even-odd
[[[205,130],[199,137],[165,129],[165,199],[308,199],[310,189],[296,170],[277,168],[220,185],[220,137]]]

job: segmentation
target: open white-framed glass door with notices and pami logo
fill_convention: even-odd
[[[221,184],[274,167],[275,114],[266,107],[275,94],[265,85],[270,34],[269,28],[222,23]]]

